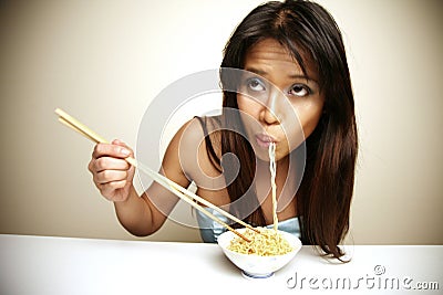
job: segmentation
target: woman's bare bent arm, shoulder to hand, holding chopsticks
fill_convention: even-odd
[[[171,140],[159,171],[185,188],[189,186],[190,180],[186,177],[186,167],[181,160],[179,149],[193,152],[190,149],[196,146],[194,140],[184,140],[183,137],[189,124],[190,122],[185,124]],[[193,145],[187,146],[186,143]],[[138,197],[133,186],[135,169],[126,162],[126,157],[134,157],[134,152],[120,140],[97,144],[89,170],[101,194],[114,202],[120,223],[134,235],[150,235],[163,225],[178,199],[156,182]]]

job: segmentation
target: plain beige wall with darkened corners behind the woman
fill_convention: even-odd
[[[230,32],[260,2],[2,1],[0,233],[136,239],[91,181],[92,144],[53,109],[135,147],[151,99],[217,67]],[[346,38],[361,139],[347,242],[442,244],[443,6],[321,3]],[[145,240],[199,236],[169,221]]]

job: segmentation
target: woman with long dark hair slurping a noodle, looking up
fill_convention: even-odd
[[[185,124],[161,172],[183,187],[194,181],[197,194],[250,224],[269,225],[271,193],[264,183],[269,183],[267,151],[275,143],[281,230],[340,259],[358,138],[344,46],[332,17],[308,1],[257,7],[230,36],[220,77],[223,114]],[[300,173],[299,161],[291,159],[305,155],[305,147]],[[196,156],[184,157],[184,151]],[[177,198],[156,183],[138,198],[134,168],[124,160],[132,155],[120,140],[99,144],[89,169],[123,226],[147,235],[162,226]],[[216,241],[220,229],[197,217],[206,224],[203,239]]]

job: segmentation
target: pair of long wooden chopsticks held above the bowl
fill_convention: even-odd
[[[62,123],[63,125],[70,127],[71,129],[78,131],[79,134],[81,134],[82,136],[86,137],[87,139],[94,141],[95,144],[99,143],[104,143],[104,144],[109,144],[109,141],[106,139],[104,139],[103,137],[101,137],[99,134],[94,133],[92,129],[90,129],[86,125],[80,123],[78,119],[75,119],[74,117],[70,116],[69,114],[66,114],[65,112],[63,112],[60,108],[55,109],[55,114],[59,115],[59,122]],[[163,186],[164,188],[166,188],[167,190],[169,190],[171,192],[173,192],[175,196],[177,196],[179,199],[184,200],[185,202],[187,202],[188,204],[190,204],[192,207],[194,207],[195,209],[197,209],[198,211],[200,211],[202,213],[206,214],[208,218],[213,219],[214,221],[220,223],[222,225],[224,225],[227,230],[234,232],[235,234],[237,234],[238,236],[240,236],[241,239],[244,239],[247,242],[250,242],[249,239],[247,239],[245,235],[243,235],[241,233],[239,233],[238,231],[234,230],[231,226],[229,226],[226,222],[222,221],[220,219],[218,219],[217,217],[215,217],[213,213],[210,213],[209,211],[205,210],[202,206],[199,206],[198,203],[194,202],[193,199],[202,202],[203,204],[216,210],[217,212],[224,214],[227,218],[230,218],[231,220],[240,223],[241,225],[251,229],[254,231],[256,231],[257,233],[260,233],[257,229],[254,229],[251,225],[247,224],[246,222],[244,222],[243,220],[234,217],[233,214],[224,211],[223,209],[214,206],[213,203],[208,202],[207,200],[203,199],[202,197],[188,191],[187,189],[183,188],[182,186],[179,186],[178,183],[172,181],[171,179],[168,179],[165,176],[162,176],[161,173],[152,170],[151,168],[142,165],[141,162],[138,162],[136,159],[132,158],[132,157],[127,157],[125,158],[125,160],[131,164],[132,166],[136,167],[138,170],[143,171],[144,173],[146,173],[147,176],[150,176],[153,180],[155,180],[157,183],[159,183],[161,186]]]

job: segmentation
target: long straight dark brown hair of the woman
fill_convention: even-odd
[[[340,259],[343,253],[338,245],[349,230],[358,151],[353,94],[341,32],[329,12],[317,3],[267,2],[254,9],[236,28],[224,50],[220,67],[244,69],[248,49],[269,38],[289,50],[305,74],[303,57],[317,66],[320,91],[326,97],[324,110],[306,140],[307,160],[297,192],[297,211],[302,242]],[[236,93],[224,91],[223,106],[238,108]],[[238,128],[241,120],[230,115],[225,116],[224,124]],[[235,201],[253,183],[255,155],[247,140],[231,131],[222,136],[222,152],[234,152],[240,161],[238,177],[227,187],[230,200]],[[261,209],[247,221],[264,225]]]

